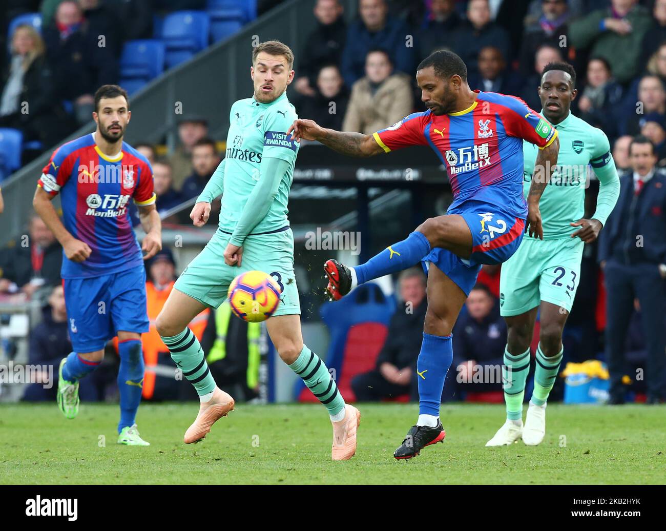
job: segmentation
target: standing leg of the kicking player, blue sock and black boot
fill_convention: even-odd
[[[423,448],[444,442],[446,432],[440,421],[444,379],[453,360],[451,330],[467,298],[436,265],[428,271],[428,310],[421,352],[416,362],[419,416],[394,452],[396,459],[418,456]]]

